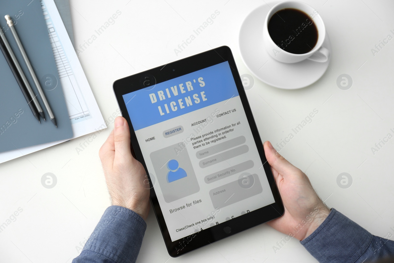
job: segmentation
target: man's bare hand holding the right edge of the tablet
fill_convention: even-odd
[[[316,194],[307,175],[277,153],[270,142],[264,142],[264,151],[284,205],[283,216],[268,225],[302,241],[322,224],[330,209]]]

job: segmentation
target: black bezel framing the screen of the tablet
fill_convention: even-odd
[[[154,84],[164,82],[166,80],[171,80],[173,78],[177,78],[179,76],[183,76],[188,73],[198,71],[200,69],[204,69],[206,67],[210,67],[225,61],[229,62],[232,76],[237,86],[237,90],[242,101],[243,108],[245,110],[245,114],[253,134],[253,138],[255,139],[258,153],[260,155],[260,159],[262,160],[264,171],[266,172],[268,183],[271,188],[275,203],[256,209],[255,211],[251,211],[244,215],[237,216],[228,221],[197,232],[193,235],[186,236],[176,241],[171,241],[169,231],[167,229],[167,224],[165,223],[164,216],[156,196],[156,192],[154,191],[151,179],[149,178],[149,183],[151,186],[151,203],[154,208],[156,218],[159,222],[160,230],[162,231],[167,251],[171,257],[178,257],[192,250],[201,248],[212,242],[219,241],[225,237],[229,237],[231,235],[234,235],[236,233],[239,233],[241,231],[252,228],[254,226],[257,226],[259,224],[283,215],[284,207],[279,196],[279,192],[276,187],[271,168],[264,154],[262,140],[258,133],[255,119],[253,118],[253,114],[249,106],[245,90],[243,89],[242,80],[238,73],[234,57],[232,56],[230,48],[227,46],[214,48],[212,50],[208,50],[206,52],[190,56],[182,60],[167,63],[154,69],[121,78],[113,83],[113,91],[115,93],[115,97],[117,99],[122,116],[126,118],[130,127],[132,150],[134,150],[136,159],[142,163],[145,171],[147,172],[147,174],[149,174],[141,152],[141,148],[139,146],[136,134],[133,129],[133,125],[130,120],[130,116],[128,115],[126,109],[125,101],[123,100],[123,95],[143,88],[150,88]],[[145,80],[148,80],[149,83]],[[226,226],[229,226],[231,228],[230,233],[225,233],[224,228]]]

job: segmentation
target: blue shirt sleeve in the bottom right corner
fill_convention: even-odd
[[[334,208],[301,244],[321,263],[374,262],[394,255],[394,241],[372,235]]]

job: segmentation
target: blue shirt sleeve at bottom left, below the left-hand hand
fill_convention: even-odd
[[[134,263],[145,229],[146,223],[137,213],[112,205],[72,263]]]

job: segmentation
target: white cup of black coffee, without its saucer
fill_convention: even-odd
[[[297,17],[297,11],[300,12],[298,14],[298,17]],[[290,24],[290,27],[288,29],[290,34],[288,37],[282,36],[282,38],[284,39],[282,39],[281,36],[279,36],[284,32],[284,30],[282,30],[283,32],[282,31],[278,32],[280,33],[279,35],[275,34],[275,24],[269,24],[270,22],[274,23],[275,21],[279,21],[278,28],[280,28],[279,24],[281,20],[284,21],[284,19],[282,19],[282,17],[280,16],[280,14],[282,14],[282,17],[287,21],[290,22],[297,21],[294,22],[294,24]],[[294,17],[296,17],[298,20],[294,19]],[[271,21],[271,18],[273,19],[273,21]],[[289,26],[289,24],[286,24],[286,26]],[[309,28],[307,28],[308,26]],[[305,30],[306,28],[307,30]],[[316,35],[314,35],[313,30],[316,30]],[[307,31],[311,33],[306,34],[305,32]],[[302,34],[303,32],[304,35]],[[270,33],[272,34],[272,37]],[[313,37],[315,38],[313,39]],[[273,38],[275,39],[276,43]],[[281,39],[282,41],[280,41]],[[264,21],[264,28],[263,28],[264,47],[266,48],[268,54],[271,55],[272,58],[280,62],[296,63],[303,61],[305,59],[309,59],[316,62],[322,62],[322,63],[327,62],[330,57],[330,51],[327,48],[322,47],[324,39],[325,39],[325,26],[322,17],[319,15],[316,9],[300,1],[284,1],[279,4],[276,4],[268,12],[267,17]],[[304,43],[304,42],[307,43],[306,45],[308,45],[308,42],[312,43],[308,45],[308,47],[310,48],[308,47],[305,48],[304,45],[303,48],[300,49],[298,48],[299,45],[296,45],[297,43]],[[312,47],[311,45],[313,45],[313,43],[314,46]],[[288,50],[290,50],[290,52]]]

